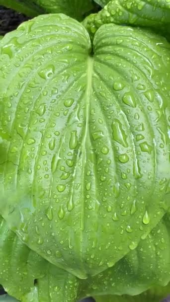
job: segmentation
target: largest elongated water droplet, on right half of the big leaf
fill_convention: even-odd
[[[113,139],[121,144],[123,147],[128,147],[127,144],[127,136],[125,134],[125,131],[122,128],[122,125],[119,120],[114,120],[112,123],[112,135]]]

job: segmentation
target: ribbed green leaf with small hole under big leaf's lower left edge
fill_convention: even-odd
[[[31,251],[2,218],[0,284],[8,294],[23,302],[75,302],[79,285],[74,276]],[[9,299],[6,297],[4,301]]]

